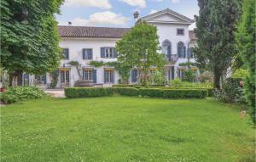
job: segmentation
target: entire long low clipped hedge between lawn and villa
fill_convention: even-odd
[[[149,98],[205,98],[207,89],[160,89],[134,87],[69,87],[65,88],[67,98],[90,98],[112,96],[113,93],[124,96],[143,96]]]

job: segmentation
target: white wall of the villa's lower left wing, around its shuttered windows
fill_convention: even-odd
[[[115,42],[118,39],[104,39],[104,38],[87,38],[87,39],[79,39],[79,38],[62,38],[60,42],[60,47],[69,48],[69,59],[62,59],[60,67],[63,64],[68,65],[69,61],[78,61],[82,67],[92,67],[90,66],[91,60],[84,60],[83,59],[83,48],[92,48],[92,60],[96,61],[103,61],[103,62],[110,62],[116,61],[117,59],[104,59],[101,58],[101,47],[115,47]],[[93,68],[93,67],[92,67]],[[97,70],[97,83],[103,84],[104,83],[104,66],[94,68]],[[79,80],[79,75],[75,67],[70,67],[70,86],[73,87],[74,82]],[[118,72],[114,72],[114,83],[117,84],[119,80]],[[58,85],[60,86],[60,85]],[[105,85],[108,86],[108,85]]]

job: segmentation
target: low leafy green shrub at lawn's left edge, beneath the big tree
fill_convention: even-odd
[[[0,99],[3,103],[17,103],[26,99],[43,98],[44,95],[38,87],[10,87],[1,94]]]

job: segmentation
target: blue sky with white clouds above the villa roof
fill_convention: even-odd
[[[198,14],[196,0],[65,0],[61,14],[56,14],[59,25],[131,27],[134,25],[133,13],[139,17],[170,8],[190,19]],[[189,29],[195,28],[195,24]]]

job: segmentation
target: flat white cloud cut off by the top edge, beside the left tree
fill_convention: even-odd
[[[108,0],[66,0],[64,5],[96,8],[112,8]]]

